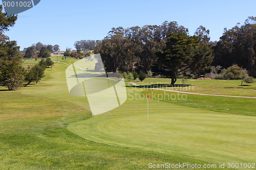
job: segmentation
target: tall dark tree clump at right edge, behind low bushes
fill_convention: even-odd
[[[214,48],[214,65],[230,67],[234,64],[245,68],[249,76],[256,76],[256,17],[248,17],[244,25],[224,29]]]

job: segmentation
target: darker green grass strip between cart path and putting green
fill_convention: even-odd
[[[196,95],[146,88],[140,90],[143,90],[141,92],[143,95],[150,93],[152,99],[157,101],[217,112],[256,116],[256,99]]]

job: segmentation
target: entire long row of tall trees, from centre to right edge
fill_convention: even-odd
[[[97,41],[94,53],[100,53],[108,72],[153,72],[172,78],[210,72],[211,66],[228,68],[238,65],[255,77],[256,18],[244,25],[224,30],[220,41],[209,41],[209,30],[199,26],[193,36],[177,22],[164,21],[159,26],[112,28]]]

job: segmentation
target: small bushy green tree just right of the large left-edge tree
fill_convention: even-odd
[[[45,77],[45,68],[40,67],[39,64],[34,65],[32,68],[27,70],[25,74],[25,81],[27,84],[25,85],[28,86],[31,82],[36,82],[38,84],[39,80]]]

